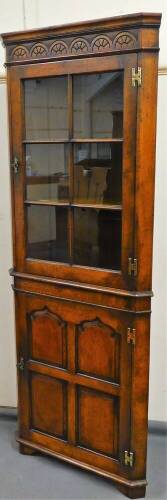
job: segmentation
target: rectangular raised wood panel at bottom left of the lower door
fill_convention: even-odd
[[[31,374],[31,428],[66,439],[66,383],[45,375]]]

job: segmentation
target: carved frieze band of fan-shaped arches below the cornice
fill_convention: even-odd
[[[87,33],[77,37],[46,39],[37,42],[23,42],[21,45],[7,46],[7,64],[73,58],[97,54],[127,52],[138,48],[138,31],[105,32],[96,35]]]

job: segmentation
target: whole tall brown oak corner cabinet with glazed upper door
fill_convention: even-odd
[[[130,498],[147,484],[160,20],[2,35],[20,451]]]

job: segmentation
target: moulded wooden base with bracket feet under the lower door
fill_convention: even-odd
[[[147,486],[147,481],[145,479],[130,481],[123,477],[117,476],[116,474],[112,474],[110,472],[98,469],[97,467],[93,467],[89,464],[80,462],[79,460],[76,460],[74,458],[67,457],[66,455],[61,455],[60,453],[56,453],[55,451],[49,450],[44,446],[32,443],[25,439],[17,437],[16,441],[19,443],[20,453],[23,453],[24,455],[33,455],[37,452],[50,455],[52,457],[63,460],[64,462],[76,465],[77,467],[80,467],[82,469],[88,470],[90,472],[95,472],[99,476],[102,476],[106,479],[110,479],[115,483],[115,486],[121,491],[121,493],[123,493],[125,496],[129,498],[145,497],[146,486]]]

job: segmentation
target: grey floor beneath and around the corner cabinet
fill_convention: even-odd
[[[20,455],[16,417],[0,413],[0,499],[123,500],[110,481],[43,455]],[[150,433],[147,499],[167,500],[167,448],[163,433]]]

